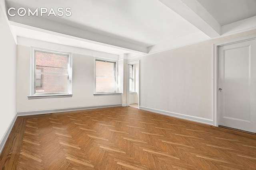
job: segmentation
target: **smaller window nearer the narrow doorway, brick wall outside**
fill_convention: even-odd
[[[95,60],[95,94],[116,93],[116,61]]]

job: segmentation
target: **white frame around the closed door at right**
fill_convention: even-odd
[[[218,71],[219,71],[219,47],[256,39],[256,34],[221,41],[213,44],[213,125],[218,127]]]

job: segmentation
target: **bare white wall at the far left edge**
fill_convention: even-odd
[[[16,119],[16,42],[0,1],[0,49],[1,49],[1,96],[0,96],[0,152],[12,123]],[[6,135],[7,134],[7,135]]]

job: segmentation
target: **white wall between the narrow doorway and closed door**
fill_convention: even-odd
[[[213,122],[213,45],[256,33],[220,37],[140,59],[140,108],[184,119]]]

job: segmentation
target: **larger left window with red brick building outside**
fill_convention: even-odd
[[[31,94],[33,98],[72,97],[72,54],[31,48]]]

